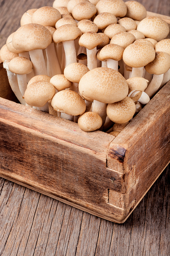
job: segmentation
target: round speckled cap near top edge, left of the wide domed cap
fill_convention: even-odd
[[[72,10],[73,18],[76,20],[90,19],[97,12],[94,4],[90,2],[82,2],[74,6]]]

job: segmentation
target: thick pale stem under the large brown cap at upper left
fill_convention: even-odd
[[[41,49],[36,49],[30,51],[29,54],[33,65],[34,75],[48,75],[43,51]]]

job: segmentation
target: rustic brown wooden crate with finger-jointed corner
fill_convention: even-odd
[[[16,103],[2,63],[0,84],[7,180],[123,223],[170,162],[170,82],[115,139]]]

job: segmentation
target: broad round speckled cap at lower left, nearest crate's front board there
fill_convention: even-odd
[[[24,99],[30,106],[42,107],[55,94],[55,88],[47,81],[37,81],[30,84],[24,93]]]

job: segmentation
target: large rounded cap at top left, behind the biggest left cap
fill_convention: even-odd
[[[61,19],[60,12],[51,7],[51,6],[43,6],[37,9],[32,15],[32,23],[41,24],[43,26],[51,26],[55,27],[55,23],[57,20]]]

